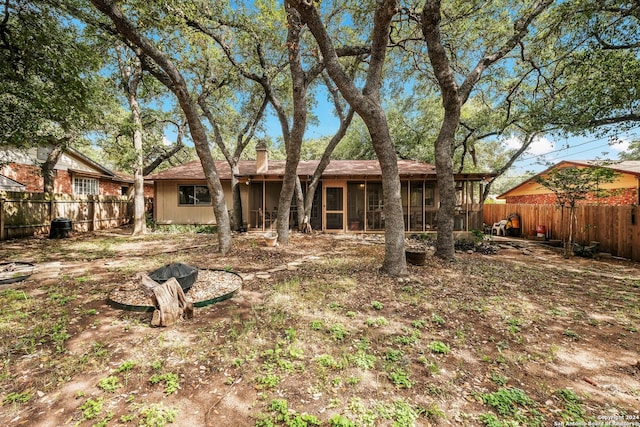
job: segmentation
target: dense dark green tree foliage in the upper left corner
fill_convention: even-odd
[[[66,144],[97,122],[109,97],[100,56],[57,7],[17,0],[3,10],[0,145]]]

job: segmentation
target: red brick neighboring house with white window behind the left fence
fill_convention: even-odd
[[[44,192],[40,163],[48,149],[39,147],[7,150],[0,153],[0,191]],[[133,176],[113,172],[72,148],[67,149],[55,166],[54,192],[73,195],[128,195],[133,189]],[[145,183],[145,197],[153,197],[153,184]]]

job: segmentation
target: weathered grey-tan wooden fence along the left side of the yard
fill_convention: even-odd
[[[119,227],[132,217],[126,196],[0,192],[0,240],[48,233],[51,221],[67,218],[74,231]]]

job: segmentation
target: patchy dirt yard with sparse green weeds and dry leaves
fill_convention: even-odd
[[[638,264],[494,242],[394,279],[375,237],[220,256],[214,235],[127,233],[0,245],[35,266],[0,285],[0,425],[640,426]],[[171,262],[242,289],[166,328],[108,304]]]

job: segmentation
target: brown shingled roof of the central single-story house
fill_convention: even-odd
[[[266,173],[256,172],[255,160],[242,160],[238,164],[240,177],[282,177],[285,170],[284,160],[269,160],[269,169]],[[312,176],[319,160],[303,160],[298,164],[298,176]],[[226,161],[216,161],[216,170],[220,179],[231,179],[231,169]],[[435,178],[435,166],[418,162],[415,160],[399,160],[398,170],[401,176],[432,176]],[[380,164],[377,160],[332,160],[324,173],[323,177],[376,177],[382,174]],[[463,174],[465,177],[477,177],[479,180],[484,177],[491,177],[492,174]],[[154,181],[162,180],[204,180],[204,171],[199,160],[185,163],[153,175],[146,176],[145,179]]]

